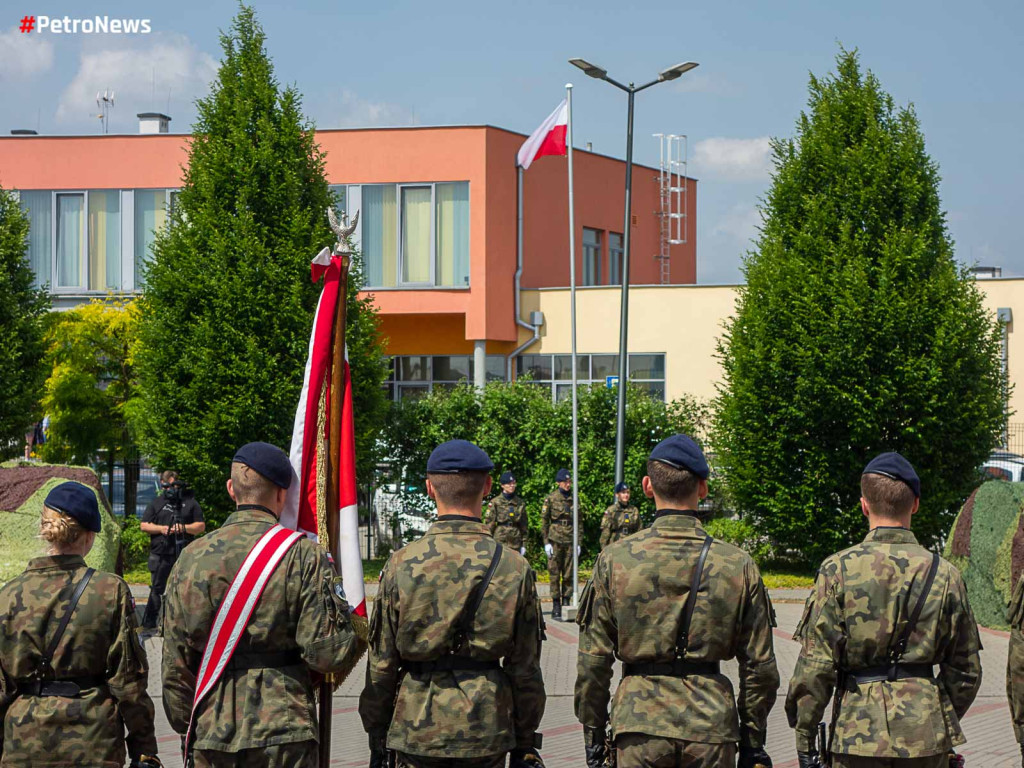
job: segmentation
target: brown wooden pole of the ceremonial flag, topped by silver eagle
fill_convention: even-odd
[[[345,402],[345,321],[348,302],[347,253],[335,254],[341,260],[338,276],[338,305],[334,318],[334,334],[331,342],[331,402],[328,412],[328,481],[326,531],[328,552],[334,563],[335,573],[341,565],[340,511],[341,499],[341,414]],[[323,537],[321,536],[323,541]],[[334,681],[325,679],[319,685],[319,768],[331,765],[331,725],[334,715]]]

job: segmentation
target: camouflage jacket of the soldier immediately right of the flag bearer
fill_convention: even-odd
[[[359,698],[369,733],[411,755],[480,758],[534,744],[544,716],[543,621],[534,571],[505,547],[461,655],[504,659],[484,671],[402,671],[453,651],[457,623],[483,580],[496,543],[479,520],[442,516],[391,555],[370,622]]]

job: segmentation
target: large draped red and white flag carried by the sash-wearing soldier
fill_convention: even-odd
[[[341,562],[338,565],[348,604],[355,613],[365,616],[367,599],[362,586],[358,502],[355,493],[355,422],[352,415],[352,382],[349,376],[347,348],[345,370],[342,375],[343,391],[331,391],[331,344],[335,330],[334,323],[338,302],[345,300],[340,291],[341,257],[332,254],[327,248],[312,261],[313,282],[317,282],[322,276],[325,279],[324,290],[321,292],[312,333],[309,336],[309,356],[306,359],[302,392],[299,395],[299,407],[295,412],[295,426],[292,430],[291,460],[295,476],[288,492],[281,524],[302,531],[310,539],[317,538],[317,465],[327,466],[327,462],[318,461],[317,454],[321,445],[327,444],[331,428],[327,419],[318,418],[319,396],[326,387],[326,413],[331,412],[331,398],[342,398],[341,445],[338,446],[341,468],[338,487],[340,509],[327,510],[328,515],[340,516],[339,541],[337,544],[334,542],[330,544],[332,549],[340,553]],[[325,430],[323,435],[317,430],[317,423],[321,421]]]

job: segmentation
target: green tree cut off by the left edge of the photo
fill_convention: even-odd
[[[28,240],[28,216],[0,187],[0,459],[20,452],[39,418],[45,378],[43,321],[50,302],[45,290],[33,287]]]

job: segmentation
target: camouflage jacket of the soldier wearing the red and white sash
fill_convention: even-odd
[[[274,523],[259,510],[234,512],[181,553],[164,597],[164,711],[171,727],[188,727],[196,676],[217,608],[259,538]],[[253,610],[239,654],[294,650],[289,667],[227,671],[197,715],[199,750],[239,752],[316,738],[310,672],[349,671],[364,644],[334,589],[327,553],[303,539],[288,551]]]

